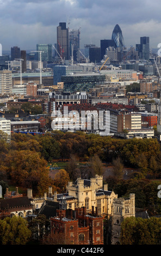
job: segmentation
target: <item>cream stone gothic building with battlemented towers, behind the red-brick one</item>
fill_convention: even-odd
[[[117,198],[114,191],[108,190],[108,185],[103,186],[103,176],[96,175],[90,180],[78,178],[73,184],[67,185],[67,193],[52,194],[52,188],[49,188],[49,195],[55,202],[60,202],[62,196],[65,197],[67,209],[86,208],[86,212],[92,212],[92,206],[97,207],[98,215],[110,217],[112,215],[113,200]]]

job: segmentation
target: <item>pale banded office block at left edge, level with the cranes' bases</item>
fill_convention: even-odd
[[[12,93],[12,71],[0,71],[0,94]]]

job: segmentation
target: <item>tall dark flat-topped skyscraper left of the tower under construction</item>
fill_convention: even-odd
[[[69,29],[65,22],[60,22],[57,27],[57,51],[61,58],[70,59],[69,56]]]

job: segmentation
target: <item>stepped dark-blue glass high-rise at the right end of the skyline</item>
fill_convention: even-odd
[[[140,44],[136,45],[136,51],[138,51],[138,56],[140,59],[149,60],[150,48],[149,48],[149,37],[148,36],[140,37]]]

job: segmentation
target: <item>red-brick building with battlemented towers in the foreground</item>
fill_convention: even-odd
[[[62,200],[64,200],[62,198]],[[98,211],[86,214],[86,208],[57,210],[57,217],[51,219],[51,233],[64,234],[67,244],[103,245],[103,217]]]

